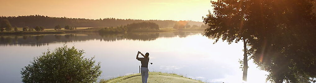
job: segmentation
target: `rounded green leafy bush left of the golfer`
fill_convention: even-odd
[[[84,58],[83,50],[67,46],[48,50],[22,68],[25,83],[93,83],[101,74],[100,62]]]

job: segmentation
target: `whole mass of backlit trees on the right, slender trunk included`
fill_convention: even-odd
[[[313,0],[218,0],[203,17],[206,36],[243,41],[243,80],[248,59],[273,83],[316,82],[316,16]],[[248,58],[249,56],[249,58]]]

